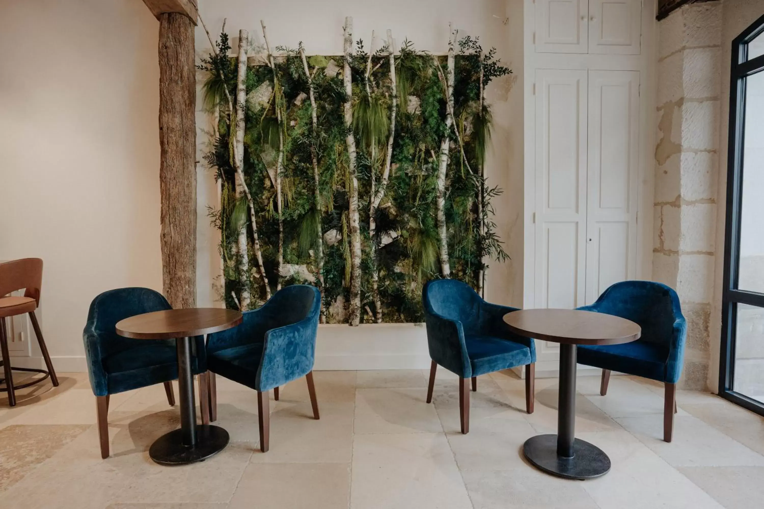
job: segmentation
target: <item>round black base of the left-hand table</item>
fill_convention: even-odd
[[[228,445],[228,431],[219,426],[197,425],[196,445],[183,445],[183,430],[173,430],[151,444],[148,455],[160,465],[186,465],[215,456]]]

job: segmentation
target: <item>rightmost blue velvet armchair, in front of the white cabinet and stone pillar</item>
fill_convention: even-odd
[[[685,357],[687,323],[676,292],[652,281],[624,281],[610,286],[584,311],[613,314],[642,327],[642,337],[631,343],[578,346],[578,362],[602,368],[600,394],[607,394],[610,371],[663,382],[663,440],[671,442],[676,412],[676,382]]]

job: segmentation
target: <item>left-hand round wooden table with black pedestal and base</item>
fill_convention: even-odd
[[[221,308],[189,308],[154,311],[118,321],[117,333],[136,340],[174,339],[178,353],[180,430],[159,437],[148,454],[161,465],[184,465],[204,461],[228,445],[228,431],[219,426],[196,424],[196,404],[191,371],[194,336],[202,336],[241,324],[241,313]]]

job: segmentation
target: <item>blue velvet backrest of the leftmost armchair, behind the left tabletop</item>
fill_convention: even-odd
[[[136,314],[151,313],[172,309],[162,294],[151,288],[117,288],[103,292],[94,298],[88,312],[86,331],[91,329],[99,337],[103,357],[128,350],[136,346],[145,346],[145,340],[133,340],[117,334],[115,325],[118,321]],[[167,340],[172,342],[172,340]]]

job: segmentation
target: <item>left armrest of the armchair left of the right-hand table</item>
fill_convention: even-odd
[[[465,378],[472,376],[472,366],[460,321],[428,310],[425,313],[430,358],[440,366]]]

